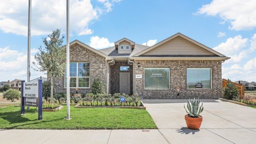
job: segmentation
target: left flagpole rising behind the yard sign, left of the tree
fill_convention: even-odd
[[[30,39],[31,39],[31,0],[28,0],[28,22],[27,22],[27,82],[30,81]],[[27,106],[27,110],[29,107]]]

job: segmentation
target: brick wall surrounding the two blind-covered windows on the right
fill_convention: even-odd
[[[140,67],[138,67],[140,62]],[[134,74],[142,74],[142,79],[135,78],[135,92],[144,99],[187,99],[218,98],[222,95],[221,61],[220,60],[135,60]],[[144,89],[144,68],[170,68],[170,89]],[[211,68],[211,89],[187,89],[186,68]],[[180,95],[177,96],[177,87]]]

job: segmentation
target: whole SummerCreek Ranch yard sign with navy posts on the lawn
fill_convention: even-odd
[[[37,82],[21,82],[21,114],[25,106],[38,107],[38,120],[42,120],[42,80]]]

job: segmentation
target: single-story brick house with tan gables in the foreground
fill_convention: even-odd
[[[65,48],[65,47],[63,47]],[[99,78],[107,93],[137,93],[142,98],[221,97],[221,63],[229,57],[177,33],[147,47],[127,38],[114,47],[96,50],[74,40],[70,43],[71,92],[88,93]],[[66,78],[54,80],[64,92]]]

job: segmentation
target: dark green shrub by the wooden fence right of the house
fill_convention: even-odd
[[[233,99],[236,99],[237,97],[238,97],[238,90],[235,84],[231,83],[231,81],[228,80],[228,83],[223,90],[223,98],[233,100]]]

